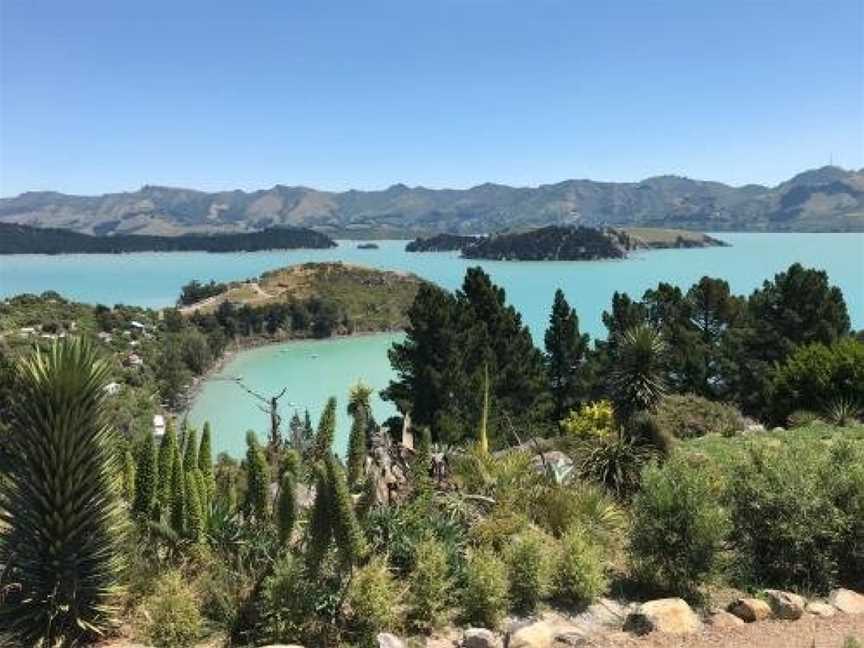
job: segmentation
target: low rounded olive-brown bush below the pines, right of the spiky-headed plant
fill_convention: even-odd
[[[734,405],[710,401],[695,394],[671,394],[654,411],[660,427],[679,439],[706,434],[731,436],[744,428],[741,413]]]

